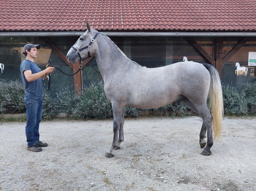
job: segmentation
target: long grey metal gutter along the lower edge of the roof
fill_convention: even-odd
[[[256,37],[255,32],[101,32],[115,37]],[[84,32],[0,32],[0,37],[81,36]]]

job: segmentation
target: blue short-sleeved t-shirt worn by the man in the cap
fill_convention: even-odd
[[[22,77],[23,84],[25,86],[25,95],[29,98],[39,98],[43,95],[43,85],[41,78],[38,78],[37,80],[28,82],[25,78],[24,71],[30,70],[32,74],[38,73],[41,71],[40,68],[30,60],[24,60],[20,64],[20,73]]]

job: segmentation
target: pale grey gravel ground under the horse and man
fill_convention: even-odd
[[[256,190],[256,117],[223,120],[212,155],[202,119],[125,119],[124,142],[106,158],[112,120],[42,121],[41,152],[26,150],[25,122],[0,122],[0,190]]]

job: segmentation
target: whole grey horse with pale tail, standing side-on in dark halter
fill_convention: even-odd
[[[113,109],[114,138],[105,154],[113,157],[124,140],[124,107],[157,108],[182,101],[198,113],[203,124],[200,132],[201,154],[210,155],[214,138],[221,137],[223,117],[222,86],[219,73],[210,64],[178,62],[159,68],[142,67],[130,60],[103,33],[91,29],[80,36],[67,54],[70,63],[94,55],[104,80],[104,91]],[[207,106],[209,94],[210,110]],[[207,131],[207,141],[206,138]]]

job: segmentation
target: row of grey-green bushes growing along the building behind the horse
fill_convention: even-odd
[[[19,81],[0,79],[0,113],[24,113],[24,88]],[[60,86],[56,93],[44,91],[43,118],[54,118],[57,113],[65,112],[75,119],[112,118],[112,107],[104,93],[102,80],[84,87],[80,96],[72,88]],[[226,115],[256,114],[256,83],[238,84],[235,87],[223,86],[224,113]],[[125,117],[136,117],[142,113],[164,116],[194,115],[189,107],[181,103],[172,103],[155,109],[125,107]]]

